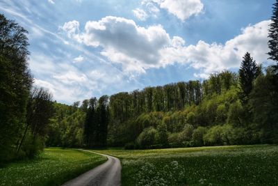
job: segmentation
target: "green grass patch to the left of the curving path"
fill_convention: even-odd
[[[106,161],[81,150],[46,148],[34,160],[10,163],[0,169],[0,185],[61,185]]]

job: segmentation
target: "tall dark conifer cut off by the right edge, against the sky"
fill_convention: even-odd
[[[270,52],[269,59],[277,61],[276,70],[278,70],[278,0],[273,4],[270,29],[268,29],[268,47]]]

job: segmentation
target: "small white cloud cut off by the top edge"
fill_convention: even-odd
[[[159,8],[167,10],[168,13],[178,17],[183,22],[193,15],[202,13],[204,8],[201,0],[142,0],[141,3],[155,15],[159,12],[156,7],[158,5]]]

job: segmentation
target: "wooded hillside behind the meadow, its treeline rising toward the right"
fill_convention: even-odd
[[[107,145],[126,148],[277,143],[277,87],[273,68],[261,72],[247,53],[239,75],[225,70],[204,82],[104,95],[80,107],[56,104],[47,144],[106,146],[106,127]]]

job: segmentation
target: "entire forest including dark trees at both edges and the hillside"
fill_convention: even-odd
[[[238,72],[101,98],[53,101],[33,86],[27,31],[0,15],[0,161],[44,146],[166,148],[278,143],[278,1],[268,66],[246,52]]]

